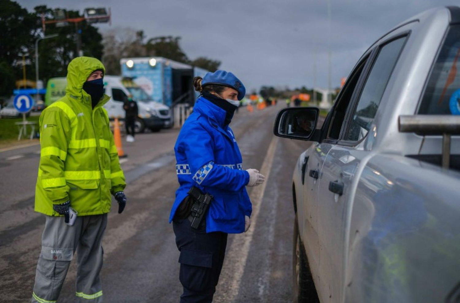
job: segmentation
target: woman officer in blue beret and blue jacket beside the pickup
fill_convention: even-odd
[[[176,244],[180,251],[179,280],[182,303],[212,302],[224,262],[227,234],[247,231],[252,212],[246,186],[265,177],[255,169],[242,170],[242,156],[229,123],[246,93],[230,72],[218,70],[195,77],[201,96],[185,121],[174,146],[179,188],[171,210]],[[187,216],[192,186],[213,195],[206,220],[198,229]],[[185,206],[184,206],[185,204]]]

